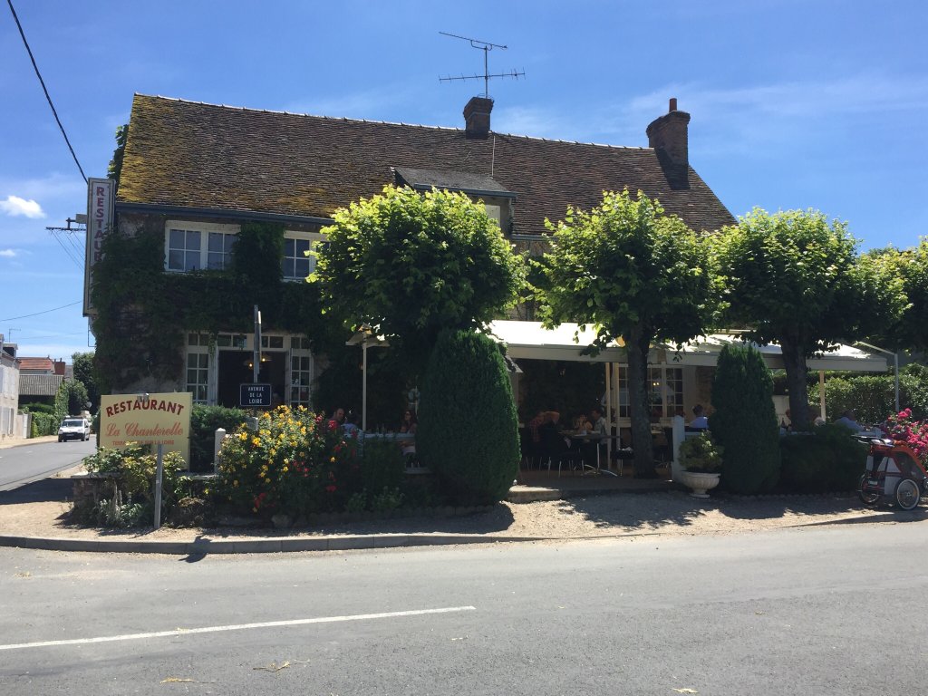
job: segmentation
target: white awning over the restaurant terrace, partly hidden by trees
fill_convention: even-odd
[[[577,324],[561,324],[557,329],[545,329],[535,321],[498,320],[490,324],[493,335],[509,347],[509,357],[518,360],[568,360],[597,363],[626,363],[625,348],[620,343],[598,355],[584,355],[583,350],[592,342],[595,333],[592,327],[579,331]],[[578,342],[574,334],[578,333]],[[712,334],[684,347],[679,353],[673,346],[658,346],[651,349],[651,364],[671,366],[715,367],[722,347],[730,343],[741,343],[741,339],[730,334]],[[755,345],[764,356],[767,367],[782,369],[783,359],[780,346]],[[811,357],[807,361],[810,370],[841,369],[857,372],[884,372],[885,358],[867,353],[849,345],[839,345],[835,350]]]

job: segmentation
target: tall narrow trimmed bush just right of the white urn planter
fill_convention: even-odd
[[[780,429],[773,380],[760,352],[726,345],[712,384],[709,430],[722,446],[720,485],[732,493],[763,493],[780,479]]]

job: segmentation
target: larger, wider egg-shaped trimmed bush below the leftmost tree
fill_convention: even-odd
[[[422,382],[416,448],[458,505],[502,500],[519,472],[519,421],[499,346],[445,331]]]

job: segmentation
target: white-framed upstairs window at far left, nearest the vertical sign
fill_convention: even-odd
[[[238,229],[238,225],[168,220],[164,226],[164,270],[224,270],[231,261]]]

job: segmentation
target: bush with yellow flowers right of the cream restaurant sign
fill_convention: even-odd
[[[216,492],[260,515],[342,509],[358,466],[356,433],[303,406],[261,414],[258,430],[241,425],[219,452]]]

